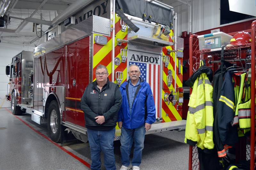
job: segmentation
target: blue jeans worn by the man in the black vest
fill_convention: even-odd
[[[116,170],[114,155],[114,138],[116,128],[111,130],[87,129],[88,140],[91,150],[91,169],[100,170],[100,151],[104,154],[104,165],[107,170]]]

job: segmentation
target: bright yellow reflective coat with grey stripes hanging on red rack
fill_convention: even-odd
[[[212,91],[207,74],[201,73],[194,81],[188,103],[185,143],[201,149],[214,147]]]

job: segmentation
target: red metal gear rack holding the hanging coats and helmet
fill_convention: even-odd
[[[255,31],[256,31],[256,20],[252,22],[251,29],[246,30],[251,32],[252,41],[248,44],[227,46],[224,49],[224,58],[234,60],[237,58],[237,53],[244,54],[245,57],[250,59],[252,70],[251,75],[251,87],[255,87]],[[234,35],[234,33],[230,33]],[[217,62],[211,62],[220,60],[221,49],[207,49],[199,50],[198,35],[192,34],[189,37],[189,76],[191,76],[200,65],[200,59],[204,59],[206,66],[212,68],[213,71],[218,69],[219,64]],[[237,61],[236,61],[237,62]],[[192,89],[190,88],[190,94]],[[255,96],[255,88],[251,88],[251,96]],[[255,168],[255,97],[251,97],[251,135],[247,137],[246,151],[244,152],[243,157],[246,160],[250,160],[250,170]],[[240,149],[240,148],[239,148]],[[244,148],[245,149],[245,148]],[[236,155],[237,156],[237,155]],[[239,158],[241,156],[239,155]],[[199,169],[199,160],[196,146],[189,146],[189,162],[188,169],[196,170]]]

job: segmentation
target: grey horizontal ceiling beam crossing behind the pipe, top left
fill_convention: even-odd
[[[18,3],[15,5],[15,9],[30,9],[30,10],[36,10],[38,6],[40,6],[40,2],[30,2],[30,1],[18,1]],[[59,5],[59,4],[49,4],[45,3],[41,10],[65,10],[69,5]]]

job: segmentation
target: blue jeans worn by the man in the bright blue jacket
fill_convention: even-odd
[[[130,153],[132,148],[132,142],[134,138],[134,150],[133,150],[133,158],[132,158],[132,166],[140,166],[142,150],[144,148],[144,139],[145,139],[145,125],[136,129],[126,129],[124,127],[121,128],[121,160],[124,166],[130,165]]]

